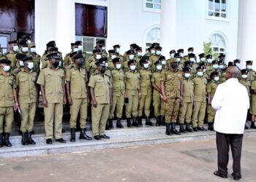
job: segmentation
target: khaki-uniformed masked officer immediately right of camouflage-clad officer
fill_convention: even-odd
[[[183,95],[181,95],[182,103],[178,112],[178,123],[180,124],[179,132],[192,132],[190,123],[194,100],[194,82],[192,82],[191,79],[191,68],[185,67],[183,71]],[[184,122],[186,122],[186,129],[184,129]]]

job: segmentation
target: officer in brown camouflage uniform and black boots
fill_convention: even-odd
[[[165,102],[166,135],[181,135],[181,132],[176,130],[176,122],[181,96],[183,95],[183,84],[182,77],[177,74],[177,71],[178,63],[174,61],[170,63],[170,70],[162,72],[160,79],[162,99]]]

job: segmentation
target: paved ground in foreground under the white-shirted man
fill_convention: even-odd
[[[246,136],[242,180],[256,181],[256,136]],[[230,156],[229,172],[232,173]],[[0,181],[233,181],[213,175],[215,141],[0,159]]]

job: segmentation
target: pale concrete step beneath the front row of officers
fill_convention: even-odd
[[[210,140],[215,138],[215,132],[191,132],[182,135],[165,135],[165,127],[133,127],[105,132],[110,139],[101,141],[79,140],[79,132],[76,132],[76,142],[69,142],[69,133],[64,133],[63,138],[67,143],[56,143],[52,145],[45,143],[45,135],[34,135],[35,146],[22,146],[21,137],[10,138],[12,147],[2,147],[0,157],[31,157],[37,155],[60,154],[69,152],[94,151],[100,149],[117,149],[130,146],[154,145],[159,143],[174,143],[192,140]],[[91,132],[88,135],[92,136]],[[256,130],[246,130],[245,135],[256,135]]]

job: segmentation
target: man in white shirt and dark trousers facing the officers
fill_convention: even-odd
[[[249,109],[249,96],[238,82],[238,68],[230,66],[225,72],[227,81],[217,87],[211,106],[217,110],[214,120],[218,152],[218,170],[214,172],[227,178],[228,152],[231,147],[233,156],[233,178],[241,179],[241,149],[244,124]]]

